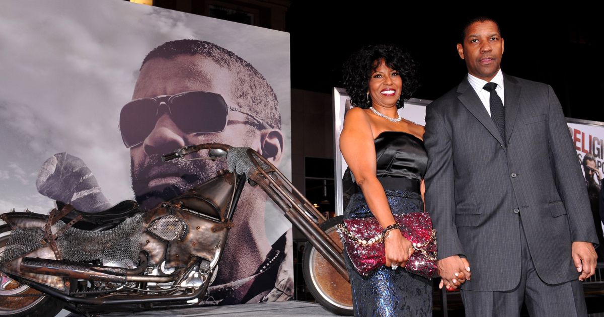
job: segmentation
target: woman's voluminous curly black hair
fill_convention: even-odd
[[[419,87],[416,63],[408,53],[393,45],[364,46],[361,50],[352,54],[342,68],[342,83],[355,106],[363,109],[371,107],[371,95],[367,100],[369,79],[371,73],[377,67],[375,65],[376,60],[380,59],[384,59],[388,67],[399,72],[400,79],[403,82],[400,94],[402,101],[411,98],[411,95]],[[402,102],[396,105],[397,108],[402,106]]]

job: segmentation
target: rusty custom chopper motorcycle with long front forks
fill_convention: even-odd
[[[123,202],[88,214],[57,202],[49,215],[5,213],[0,226],[0,316],[83,315],[201,304],[217,272],[246,182],[260,186],[309,240],[304,278],[326,309],[352,315],[335,225],[259,153],[199,144],[164,161],[224,161],[228,170],[150,211]],[[166,163],[169,164],[169,163]]]

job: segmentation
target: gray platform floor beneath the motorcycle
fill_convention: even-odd
[[[69,317],[80,315],[70,314]],[[320,304],[307,303],[303,301],[282,301],[277,303],[258,303],[243,304],[231,306],[210,306],[210,307],[188,307],[181,309],[162,309],[150,310],[148,312],[137,313],[107,313],[101,314],[103,317],[122,317],[122,316],[245,316],[245,317],[273,317],[273,316],[304,316],[304,317],[324,317],[337,316],[328,312]]]

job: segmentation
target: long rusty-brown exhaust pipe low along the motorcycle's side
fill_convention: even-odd
[[[133,272],[142,272],[144,270],[140,270],[139,268],[130,270],[122,267],[94,266],[86,263],[50,260],[47,258],[24,258],[21,261],[20,268],[22,272],[34,274],[82,278],[84,280],[113,283],[126,283],[129,281],[169,283],[176,280],[177,276],[176,274],[164,277],[129,275]]]

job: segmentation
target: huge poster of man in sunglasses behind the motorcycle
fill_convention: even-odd
[[[0,3],[0,211],[152,208],[249,146],[291,175],[289,34],[120,0]],[[266,208],[265,208],[266,207]],[[293,294],[291,224],[246,187],[207,304]]]

